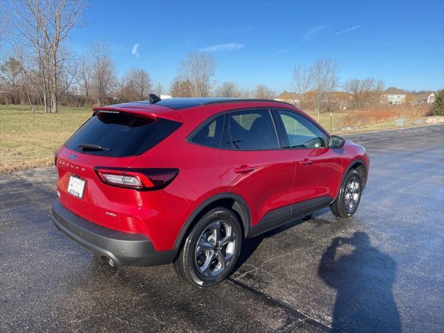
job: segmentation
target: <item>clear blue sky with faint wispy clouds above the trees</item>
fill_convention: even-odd
[[[165,88],[192,51],[216,80],[291,88],[294,65],[339,62],[341,82],[374,77],[402,89],[444,87],[444,1],[93,1],[71,42],[110,44],[117,72],[146,69]],[[137,45],[137,46],[135,46]]]

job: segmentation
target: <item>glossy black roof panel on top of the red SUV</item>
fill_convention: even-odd
[[[155,103],[155,105],[162,105],[174,110],[182,110],[186,108],[194,108],[201,105],[219,104],[219,103],[236,103],[236,102],[273,102],[284,103],[291,105],[287,102],[274,101],[273,99],[232,99],[228,97],[196,97],[196,98],[183,98],[183,99],[162,99]],[[150,103],[149,101],[139,101],[135,103]],[[293,106],[293,105],[291,105]]]

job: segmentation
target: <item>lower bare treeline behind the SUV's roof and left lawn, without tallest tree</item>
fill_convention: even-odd
[[[237,83],[216,85],[216,61],[208,53],[190,53],[180,63],[178,75],[170,87],[153,83],[150,74],[142,68],[133,68],[120,80],[107,44],[96,42],[71,67],[58,76],[57,101],[60,105],[91,106],[148,99],[148,94],[170,94],[174,97],[223,96],[273,99],[276,93],[265,85],[242,89]],[[0,103],[45,105],[45,85],[40,67],[26,66],[20,58],[10,56],[0,65]],[[55,112],[47,105],[47,112]]]

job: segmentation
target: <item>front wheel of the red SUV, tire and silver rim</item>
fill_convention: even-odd
[[[351,185],[353,189],[350,188],[350,184],[355,182],[356,185]],[[339,189],[339,194],[334,203],[330,205],[330,211],[332,214],[344,219],[350,218],[355,214],[361,202],[362,194],[362,180],[361,175],[355,169],[348,171],[345,176],[341,189]]]

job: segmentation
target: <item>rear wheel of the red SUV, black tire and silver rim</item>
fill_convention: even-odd
[[[225,207],[213,208],[189,232],[173,262],[174,269],[189,284],[212,287],[232,272],[241,252],[242,240],[241,224],[236,214]],[[223,245],[224,241],[227,243]]]

